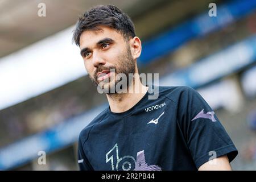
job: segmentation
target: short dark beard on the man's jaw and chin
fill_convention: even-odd
[[[119,90],[116,90],[116,86],[122,78],[117,77],[116,75],[119,73],[124,74],[126,76],[125,86],[123,86],[122,91],[126,91],[129,88],[129,85],[133,80],[129,79],[129,74],[134,75],[135,73],[135,60],[131,55],[131,49],[127,46],[127,51],[125,53],[121,53],[118,56],[118,61],[115,65],[105,67],[104,65],[98,65],[96,70],[93,72],[93,76],[90,76],[90,80],[94,83],[94,85],[98,86],[104,93],[106,94],[117,94]],[[102,72],[103,70],[114,71],[114,74],[110,74],[110,79],[106,78],[105,80],[98,81],[97,73]],[[114,77],[114,78],[113,78]],[[122,86],[121,86],[122,87]],[[124,89],[124,90],[123,90]]]

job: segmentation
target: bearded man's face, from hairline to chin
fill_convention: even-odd
[[[135,60],[131,55],[129,42],[126,42],[122,34],[113,28],[100,28],[100,31],[82,32],[80,49],[90,79],[108,92],[119,81],[116,76],[118,73],[124,73],[127,80],[129,73],[134,74]],[[110,69],[115,72],[110,72]]]

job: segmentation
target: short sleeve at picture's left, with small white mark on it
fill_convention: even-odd
[[[83,143],[81,142],[81,134],[79,136],[78,148],[77,148],[77,162],[79,164],[80,171],[93,171],[88,159],[84,154]]]

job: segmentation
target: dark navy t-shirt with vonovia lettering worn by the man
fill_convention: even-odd
[[[81,170],[197,170],[209,159],[238,154],[214,111],[188,86],[159,86],[131,109],[106,108],[79,135]]]

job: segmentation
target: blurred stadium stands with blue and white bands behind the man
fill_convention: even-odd
[[[38,4],[46,4],[46,17]],[[217,16],[210,17],[209,3]],[[0,169],[77,170],[77,137],[106,107],[71,44],[77,17],[113,4],[142,39],[139,72],[195,88],[256,169],[256,0],[0,0]],[[38,164],[46,151],[46,165]]]

